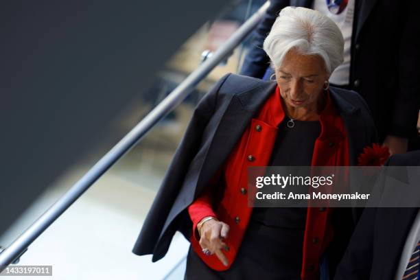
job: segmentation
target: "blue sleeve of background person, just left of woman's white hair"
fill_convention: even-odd
[[[266,14],[264,14],[261,22],[253,32],[253,40],[250,44],[250,50],[244,58],[244,64],[240,71],[241,75],[263,78],[264,73],[270,66],[270,58],[268,58],[266,51],[263,49],[264,40],[270,32],[273,23],[275,23],[277,16],[279,16],[280,10],[289,5],[290,1],[272,0],[270,2]]]

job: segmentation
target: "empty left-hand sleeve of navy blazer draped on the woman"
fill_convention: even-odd
[[[141,226],[132,253],[136,255],[154,254],[152,261],[156,261],[165,255],[164,250],[167,250],[167,248],[159,248],[159,253],[156,253],[155,248],[161,240],[165,223],[174,206],[189,165],[200,148],[202,132],[217,108],[220,88],[229,75],[230,73],[224,75],[196,106],[183,139],[176,148],[161,187],[153,200],[152,207],[150,207],[143,226]],[[165,244],[165,246],[169,246],[169,244]]]

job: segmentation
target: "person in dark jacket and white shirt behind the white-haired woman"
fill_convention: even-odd
[[[406,152],[415,139],[420,108],[420,1],[271,0],[254,32],[242,75],[268,80],[273,73],[262,49],[264,38],[285,6],[313,8],[329,16],[345,39],[344,62],[331,74],[331,85],[364,97],[379,140],[390,154]],[[413,141],[411,149],[417,149]]]

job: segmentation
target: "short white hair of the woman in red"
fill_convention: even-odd
[[[286,7],[281,10],[264,40],[264,51],[273,68],[281,66],[285,54],[292,48],[300,54],[323,58],[328,74],[344,60],[344,39],[340,28],[328,16],[307,8]]]

